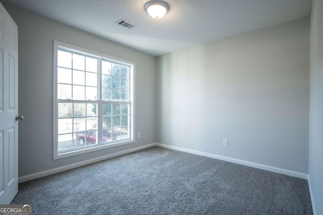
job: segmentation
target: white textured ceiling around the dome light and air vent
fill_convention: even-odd
[[[311,0],[166,0],[160,20],[148,0],[1,0],[48,19],[158,56],[310,15]],[[125,19],[135,25],[116,24]]]

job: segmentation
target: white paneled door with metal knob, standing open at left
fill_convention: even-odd
[[[0,204],[18,192],[18,27],[0,4]]]

